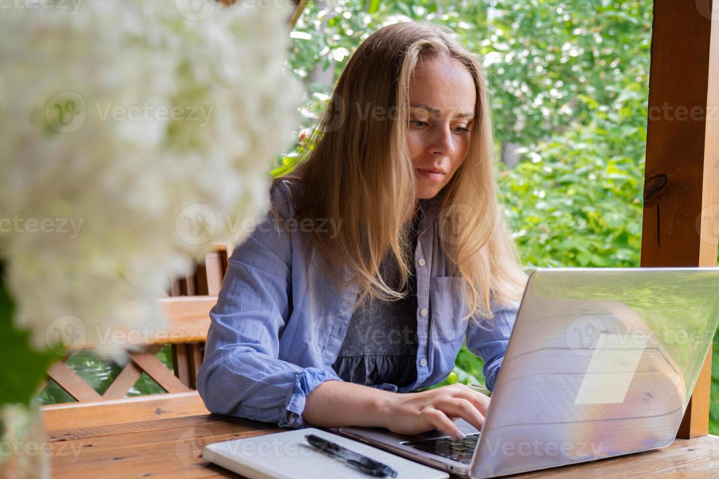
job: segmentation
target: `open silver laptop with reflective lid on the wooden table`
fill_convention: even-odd
[[[665,447],[718,322],[719,268],[537,269],[481,432],[339,432],[470,478]]]

